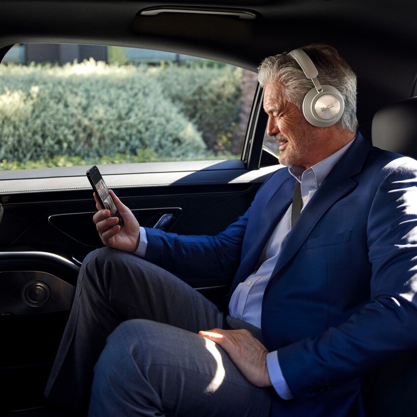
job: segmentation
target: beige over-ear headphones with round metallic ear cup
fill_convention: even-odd
[[[309,123],[316,127],[328,127],[337,123],[345,110],[345,102],[338,89],[321,86],[317,80],[316,66],[302,49],[288,53],[297,62],[314,87],[307,92],[302,102],[302,113]]]

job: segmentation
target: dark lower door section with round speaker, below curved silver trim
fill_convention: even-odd
[[[0,252],[2,411],[38,406],[68,320],[79,267],[56,254]],[[28,303],[25,287],[50,289],[44,306]],[[32,293],[33,295],[33,293]],[[26,301],[25,301],[26,299]]]

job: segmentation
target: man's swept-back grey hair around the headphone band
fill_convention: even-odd
[[[333,86],[345,101],[345,111],[337,124],[352,132],[357,130],[356,74],[337,51],[328,45],[313,44],[302,49],[316,66],[321,85]],[[297,61],[288,53],[268,57],[258,67],[258,80],[262,87],[278,83],[283,87],[286,99],[302,109],[305,94],[314,87],[306,78]]]

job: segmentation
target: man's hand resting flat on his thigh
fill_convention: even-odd
[[[240,372],[256,387],[269,387],[267,349],[247,330],[214,328],[199,334],[220,345],[233,360]]]

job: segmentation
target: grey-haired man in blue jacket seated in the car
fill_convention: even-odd
[[[417,162],[356,132],[356,76],[333,48],[302,51],[259,68],[289,169],[224,232],[140,228],[112,192],[120,230],[97,204],[109,248],[84,261],[48,398],[89,416],[362,416],[361,377],[417,345]],[[319,82],[340,94],[326,127],[301,110]],[[230,277],[226,311],[175,276],[193,274]]]

